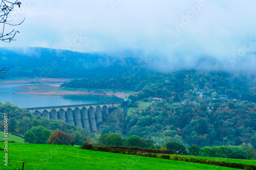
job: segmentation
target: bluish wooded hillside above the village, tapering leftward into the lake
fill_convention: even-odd
[[[208,98],[219,99],[221,95],[228,95],[230,99],[256,102],[253,77],[238,77],[221,71],[188,70],[129,78],[82,79],[66,82],[62,87],[132,90],[138,93],[140,99],[154,95],[168,99],[178,94],[179,98],[175,98],[174,102],[191,99],[197,92]]]

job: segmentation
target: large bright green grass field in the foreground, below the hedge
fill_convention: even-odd
[[[4,147],[4,143],[0,143]],[[234,169],[134,155],[80,150],[78,147],[50,144],[9,143],[9,165],[1,169]],[[0,151],[3,159],[4,151]]]

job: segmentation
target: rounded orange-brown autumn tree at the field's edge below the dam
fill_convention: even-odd
[[[70,145],[71,140],[74,140],[74,137],[72,135],[61,132],[61,131],[55,131],[55,132],[52,132],[50,138],[48,139],[48,142],[50,144]]]

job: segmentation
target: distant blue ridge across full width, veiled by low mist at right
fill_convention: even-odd
[[[139,49],[79,53],[41,47],[0,48],[1,67],[9,68],[5,78],[126,78],[187,69],[248,75],[255,72],[255,56],[251,52],[243,58],[220,59],[185,53],[170,57]]]

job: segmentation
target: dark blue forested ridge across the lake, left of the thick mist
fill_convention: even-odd
[[[154,73],[154,68],[148,69],[153,62],[145,65],[139,55],[134,51],[78,53],[40,47],[0,48],[0,63],[9,68],[6,79],[113,78],[121,77],[134,66],[139,67],[136,75]]]

